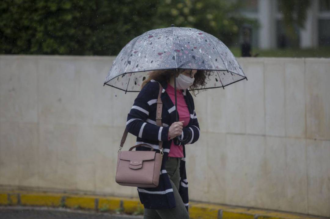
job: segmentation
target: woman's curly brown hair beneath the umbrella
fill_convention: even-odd
[[[184,68],[179,68],[177,75],[185,71],[186,69]],[[174,74],[175,69],[161,69],[161,70],[153,70],[150,71],[149,77],[145,79],[142,82],[141,89],[150,81],[150,80],[156,80],[156,81],[166,81],[167,83],[170,82],[171,76]],[[192,90],[192,93],[194,96],[196,96],[199,93],[199,90],[194,90],[194,89],[203,89],[205,87],[206,82],[206,74],[207,70],[197,70],[197,72],[194,75],[194,83],[189,87],[189,90]],[[192,77],[191,72],[190,72],[190,77]],[[196,93],[197,92],[197,93]]]

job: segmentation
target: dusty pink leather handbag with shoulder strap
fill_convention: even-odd
[[[161,115],[163,103],[160,95],[163,87],[159,82],[158,84],[159,94],[157,99],[156,124],[157,126],[162,126]],[[153,151],[153,148],[147,144],[138,144],[131,147],[128,151],[121,151],[127,133],[128,131],[125,129],[120,141],[117,157],[116,182],[124,186],[157,187],[163,159],[163,142],[159,141],[160,153]],[[132,151],[132,149],[142,145],[151,148],[151,151]]]

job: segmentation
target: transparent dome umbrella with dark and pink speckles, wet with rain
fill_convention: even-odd
[[[176,72],[179,68],[207,70],[205,87],[189,91],[224,89],[247,79],[222,41],[201,30],[172,24],[168,28],[147,31],[128,42],[114,60],[103,86],[109,85],[125,93],[139,92],[150,71],[174,69]],[[176,83],[174,86],[176,89]],[[175,106],[177,109],[176,92]]]

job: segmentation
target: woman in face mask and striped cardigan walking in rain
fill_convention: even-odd
[[[199,139],[200,128],[194,101],[187,90],[205,86],[204,70],[179,69],[155,70],[143,81],[142,89],[128,113],[126,128],[137,136],[136,144],[148,144],[159,151],[159,141],[163,141],[163,160],[159,185],[155,188],[138,187],[141,203],[144,205],[145,219],[184,219],[188,214],[188,182],[185,170],[185,145]],[[174,89],[176,80],[177,90]],[[162,126],[157,126],[156,105],[159,82],[163,91],[161,100]],[[175,110],[175,92],[177,110]],[[194,94],[195,96],[195,94]],[[179,122],[176,122],[178,112]],[[139,146],[137,151],[149,151]],[[188,149],[189,150],[189,149]]]

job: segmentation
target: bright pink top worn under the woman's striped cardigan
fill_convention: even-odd
[[[170,96],[173,104],[175,104],[174,87],[172,87],[169,83],[167,84],[166,93]],[[179,113],[179,121],[184,121],[183,127],[186,127],[190,120],[190,113],[181,90],[177,90],[177,107]],[[168,156],[183,157],[182,145],[175,145],[172,141]]]

